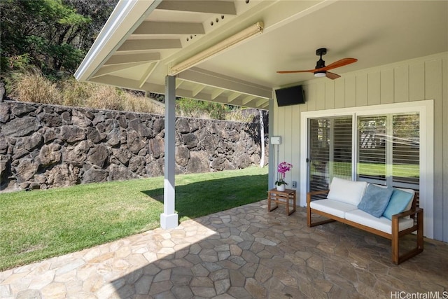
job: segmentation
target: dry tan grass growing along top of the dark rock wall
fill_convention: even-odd
[[[110,85],[78,82],[75,78],[55,83],[36,70],[13,74],[8,78],[7,87],[10,97],[22,102],[154,114],[165,113],[164,106],[152,102],[142,95],[141,92],[123,90]],[[215,116],[216,111],[201,109],[200,104],[193,107],[187,106],[187,108],[186,111],[183,111],[182,106],[178,106],[176,114],[201,119],[218,117],[246,123],[253,121],[253,115],[248,115],[242,110],[227,111],[221,113],[222,115],[220,116]]]

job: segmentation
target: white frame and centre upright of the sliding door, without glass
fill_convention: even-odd
[[[300,206],[307,202],[307,153],[309,118],[330,116],[352,116],[353,119],[353,157],[358,156],[358,134],[356,120],[358,116],[370,116],[390,113],[412,113],[420,115],[420,207],[424,209],[424,235],[433,238],[434,233],[434,101],[427,99],[416,102],[360,106],[341,109],[304,111],[300,114]],[[356,161],[356,160],[353,160]],[[356,178],[356,162],[352,163],[352,178]]]

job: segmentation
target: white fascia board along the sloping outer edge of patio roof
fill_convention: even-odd
[[[134,29],[157,8],[162,0],[120,0],[83,62],[75,72],[78,81],[87,81]],[[144,12],[144,13],[142,13]],[[119,39],[119,41],[118,41]]]

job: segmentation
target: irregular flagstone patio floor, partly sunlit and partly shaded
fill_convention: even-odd
[[[6,270],[0,298],[448,298],[447,243],[395,265],[387,239],[283,209],[263,200]]]

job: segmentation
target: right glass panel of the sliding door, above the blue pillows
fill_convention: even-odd
[[[419,113],[359,116],[357,126],[357,180],[418,189]]]

